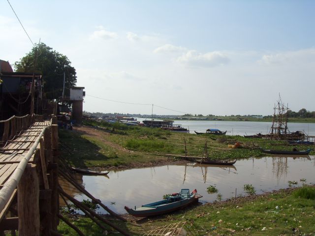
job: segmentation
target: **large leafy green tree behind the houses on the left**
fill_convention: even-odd
[[[47,99],[59,99],[63,95],[63,73],[65,73],[64,93],[69,94],[69,87],[77,82],[75,68],[63,54],[56,52],[44,43],[32,48],[25,57],[14,63],[17,72],[33,72],[34,59],[37,51],[35,72],[43,76],[44,92]]]

